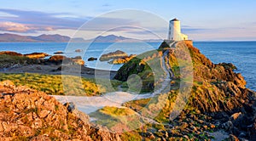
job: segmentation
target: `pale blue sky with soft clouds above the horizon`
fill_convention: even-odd
[[[177,18],[195,41],[256,41],[255,5],[255,0],[9,0],[0,5],[0,33],[166,38],[168,21]]]

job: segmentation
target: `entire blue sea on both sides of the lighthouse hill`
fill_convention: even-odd
[[[126,54],[142,54],[156,49],[161,42],[0,42],[0,51],[15,51],[20,54],[47,53],[54,55],[61,51],[68,57],[81,56],[90,68],[117,71],[122,65],[111,65],[108,61],[87,61],[90,57],[99,59],[102,54],[116,50]],[[256,42],[194,42],[213,63],[232,63],[237,73],[247,81],[247,87],[256,91]],[[81,52],[76,52],[80,49]]]

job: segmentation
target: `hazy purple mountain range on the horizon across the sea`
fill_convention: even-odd
[[[17,34],[3,33],[0,34],[0,42],[69,42],[70,37],[61,36],[59,34],[55,35],[40,35],[38,37],[32,36],[20,36]],[[73,38],[72,42],[137,42],[137,39],[108,35],[108,36],[99,36],[95,39],[84,40],[84,38]],[[139,40],[144,42],[161,42],[161,40]]]

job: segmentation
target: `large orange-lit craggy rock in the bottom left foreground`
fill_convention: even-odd
[[[88,116],[53,97],[13,82],[0,82],[0,138],[3,140],[120,140]]]

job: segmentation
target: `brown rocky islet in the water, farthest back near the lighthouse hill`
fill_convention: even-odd
[[[127,54],[125,54],[125,52],[117,50],[115,52],[111,52],[108,54],[102,54],[102,56],[100,57],[101,61],[108,61],[109,59],[119,59],[119,58],[125,58],[128,57]]]

